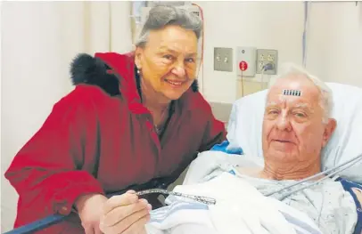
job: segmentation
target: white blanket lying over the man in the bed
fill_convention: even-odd
[[[266,198],[251,184],[230,173],[207,182],[177,186],[175,191],[215,198],[216,205],[170,196],[169,206],[152,211],[146,225],[150,234],[321,234],[306,214],[274,199]]]

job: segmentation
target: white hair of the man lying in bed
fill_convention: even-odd
[[[314,85],[316,85],[317,89],[319,90],[319,105],[324,110],[324,117],[323,117],[323,123],[328,123],[328,119],[331,117],[332,108],[333,108],[333,93],[332,90],[325,85],[325,82],[320,80],[318,77],[313,76],[309,74],[309,72],[306,69],[302,69],[301,67],[292,64],[292,63],[286,63],[282,67],[282,72],[277,77],[277,79],[282,78],[288,78],[288,77],[306,77],[311,82],[313,82]]]

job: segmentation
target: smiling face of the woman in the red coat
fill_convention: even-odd
[[[136,48],[136,66],[143,82],[169,101],[177,100],[193,84],[197,38],[179,26],[152,30],[143,48]]]

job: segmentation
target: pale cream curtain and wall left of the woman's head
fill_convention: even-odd
[[[73,89],[71,60],[78,52],[128,52],[132,44],[128,2],[1,4],[3,232],[12,229],[18,198],[4,171],[53,104]]]

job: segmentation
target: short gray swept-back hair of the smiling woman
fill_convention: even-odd
[[[177,25],[192,30],[197,39],[199,39],[202,34],[202,20],[193,13],[187,12],[182,8],[158,5],[150,10],[148,18],[141,30],[141,34],[136,40],[136,46],[144,47],[151,30],[164,28],[168,25]]]

